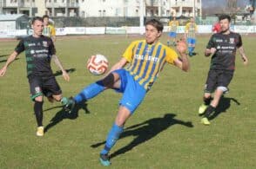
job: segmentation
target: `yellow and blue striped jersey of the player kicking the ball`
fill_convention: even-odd
[[[123,57],[130,62],[125,69],[129,71],[135,81],[148,90],[158,78],[165,62],[174,64],[178,54],[161,42],[150,45],[145,40],[141,40],[131,42]]]

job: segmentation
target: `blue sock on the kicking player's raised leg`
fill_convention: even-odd
[[[99,85],[98,83],[92,83],[88,87],[84,88],[79,94],[74,97],[74,100],[79,103],[82,101],[87,101],[94,96],[100,94],[104,90],[104,86]]]

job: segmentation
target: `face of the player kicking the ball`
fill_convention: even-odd
[[[158,38],[161,36],[162,32],[158,32],[158,29],[148,24],[145,26],[145,41],[148,44],[153,44],[158,41]]]

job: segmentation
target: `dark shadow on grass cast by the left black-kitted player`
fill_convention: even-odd
[[[62,106],[59,106],[59,107],[62,107]],[[51,107],[44,110],[44,112],[54,108],[59,108],[59,107]],[[55,116],[51,119],[50,123],[44,128],[44,132],[46,133],[51,127],[56,126],[59,122],[61,122],[64,119],[69,119],[69,120],[77,119],[78,111],[80,109],[84,110],[84,114],[90,114],[90,111],[88,110],[86,103],[77,104],[70,114],[64,110],[64,107],[62,107],[62,109],[58,111],[57,114],[55,114]]]

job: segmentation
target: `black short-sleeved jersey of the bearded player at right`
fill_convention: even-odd
[[[206,49],[217,49],[215,54],[212,55],[210,69],[234,70],[236,50],[241,46],[242,39],[237,33],[213,34],[206,46]]]

